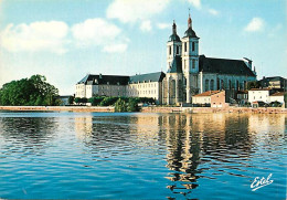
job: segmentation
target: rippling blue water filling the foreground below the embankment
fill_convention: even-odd
[[[286,199],[286,135],[287,115],[1,112],[0,198]]]

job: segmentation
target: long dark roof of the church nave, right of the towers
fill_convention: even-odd
[[[200,55],[199,71],[220,74],[256,76],[242,60],[214,59]]]

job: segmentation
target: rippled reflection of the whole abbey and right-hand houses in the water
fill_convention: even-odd
[[[245,171],[256,167],[251,161],[256,143],[262,138],[278,143],[276,138],[281,139],[286,129],[285,120],[285,115],[89,115],[76,118],[75,129],[77,138],[93,149],[97,159],[135,154],[135,149],[142,147],[164,148],[169,169],[164,177],[169,183],[164,187],[172,194],[188,197],[200,188],[201,179],[215,180],[221,176],[252,179]],[[266,136],[259,137],[263,133]]]

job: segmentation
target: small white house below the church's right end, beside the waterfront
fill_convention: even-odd
[[[252,88],[248,91],[248,102],[269,103],[270,93],[272,93],[270,88]]]

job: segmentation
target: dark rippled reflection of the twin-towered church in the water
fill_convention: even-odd
[[[199,186],[198,179],[210,168],[200,165],[222,165],[215,168],[222,173],[225,164],[237,162],[234,157],[246,158],[251,152],[247,131],[248,118],[233,114],[187,114],[162,116],[166,128],[167,167],[166,177],[172,182],[168,188],[173,193],[190,193]],[[238,171],[238,173],[241,173]],[[205,177],[212,178],[212,177]]]

